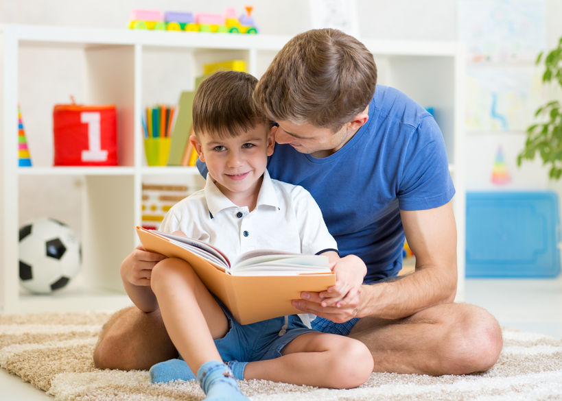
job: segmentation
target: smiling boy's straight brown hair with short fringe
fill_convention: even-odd
[[[194,97],[196,136],[205,132],[226,138],[270,123],[253,99],[256,84],[253,75],[240,71],[218,71],[205,78]]]

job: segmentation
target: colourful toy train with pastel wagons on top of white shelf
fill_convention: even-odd
[[[159,10],[132,10],[130,29],[155,29],[187,32],[223,32],[231,34],[257,34],[252,16],[253,7],[236,16],[235,8],[227,8],[224,14],[192,12],[161,12]]]

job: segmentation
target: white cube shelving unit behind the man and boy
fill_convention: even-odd
[[[259,77],[289,39],[288,36],[0,25],[0,311],[69,311],[127,304],[119,265],[137,244],[132,227],[141,222],[143,180],[172,176],[187,182],[188,186],[201,181],[193,167],[145,165],[143,136],[137,123],[141,120],[143,106],[154,103],[159,91],[177,91],[178,85],[184,85],[179,90],[192,89],[194,77],[202,73],[202,65],[208,62],[246,60],[248,72]],[[459,233],[459,297],[462,297],[465,254],[462,53],[456,43],[364,42],[375,54],[381,84],[395,86],[423,106],[436,110],[457,190],[454,206]],[[16,115],[21,96],[21,52],[44,56],[60,49],[84,54],[85,68],[79,73],[84,86],[84,103],[117,106],[118,167],[51,167],[45,163],[17,167]],[[156,63],[155,67],[154,60],[160,59],[165,62],[161,66]],[[56,63],[57,60],[45,62]],[[172,64],[176,64],[176,69],[172,69],[174,73],[171,74],[169,66]],[[177,65],[181,66],[180,73]],[[38,98],[41,95],[36,94]],[[49,102],[42,105],[49,110],[52,106]],[[24,117],[25,121],[33,118],[30,114]],[[51,136],[51,126],[45,126],[40,134]],[[23,223],[19,221],[19,186],[28,176],[42,180],[71,176],[84,180],[83,229],[79,233],[84,277],[80,287],[69,286],[71,288],[49,296],[27,295],[19,289],[18,228]]]

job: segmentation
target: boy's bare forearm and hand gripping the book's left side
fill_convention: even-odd
[[[120,274],[125,291],[143,312],[152,312],[158,308],[156,296],[150,288],[150,276],[152,267],[164,258],[164,255],[148,252],[139,245],[121,263]]]

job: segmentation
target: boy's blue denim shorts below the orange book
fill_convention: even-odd
[[[298,315],[290,315],[285,334],[279,335],[285,317],[275,317],[253,324],[239,324],[229,309],[218,301],[224,315],[229,319],[230,330],[215,339],[215,345],[223,361],[264,361],[279,358],[281,350],[296,337],[308,332],[318,332],[307,328]]]

